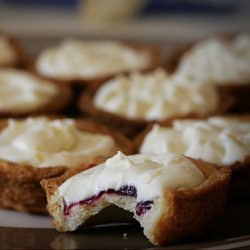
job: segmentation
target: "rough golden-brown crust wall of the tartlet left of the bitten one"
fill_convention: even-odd
[[[66,167],[35,168],[0,160],[0,207],[29,213],[46,213],[44,178],[59,176]]]

